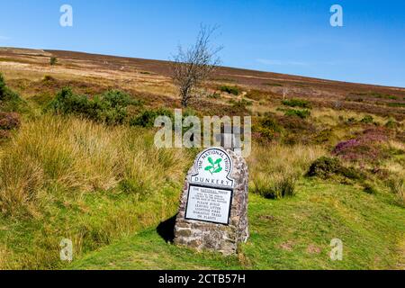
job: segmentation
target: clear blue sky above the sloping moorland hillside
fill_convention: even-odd
[[[167,59],[201,23],[220,25],[224,66],[405,87],[403,0],[0,0],[0,46]]]

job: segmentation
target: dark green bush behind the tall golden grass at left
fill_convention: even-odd
[[[81,115],[107,124],[121,124],[127,119],[127,107],[130,104],[140,103],[132,100],[129,94],[118,90],[107,91],[90,99],[86,95],[74,94],[66,87],[49,103],[47,109],[61,114]]]

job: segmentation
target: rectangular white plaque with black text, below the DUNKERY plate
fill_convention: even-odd
[[[232,190],[190,185],[185,219],[229,224]]]

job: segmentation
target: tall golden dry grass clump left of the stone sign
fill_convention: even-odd
[[[55,186],[90,193],[125,184],[127,193],[145,195],[179,180],[181,154],[152,144],[125,127],[52,116],[28,121],[0,157],[0,210],[35,215]]]

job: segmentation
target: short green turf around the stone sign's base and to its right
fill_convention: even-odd
[[[390,269],[405,233],[403,210],[388,193],[302,180],[293,198],[250,194],[251,238],[238,257],[196,253],[147,229],[77,259],[69,269]],[[344,243],[343,261],[329,258]]]

